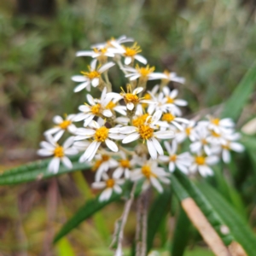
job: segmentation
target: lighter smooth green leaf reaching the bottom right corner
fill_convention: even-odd
[[[247,223],[240,218],[236,210],[209,184],[201,183],[198,187],[212,204],[215,211],[218,212],[224,220],[224,223],[229,227],[230,233],[234,236],[235,240],[245,249],[247,255],[255,255],[256,236],[253,234],[253,231],[250,230]]]

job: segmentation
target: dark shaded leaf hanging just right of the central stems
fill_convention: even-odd
[[[166,217],[171,203],[171,191],[166,189],[165,192],[158,196],[152,204],[148,213],[148,236],[147,250],[151,250],[153,246],[154,236],[160,227],[161,221]]]

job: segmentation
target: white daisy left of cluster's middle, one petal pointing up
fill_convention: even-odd
[[[90,105],[79,106],[81,113],[76,115],[74,121],[84,120],[84,127],[86,127],[95,116],[102,118],[112,117],[113,113],[108,109],[108,103],[112,100],[112,96],[108,95],[107,87],[102,90],[100,100],[94,99],[90,94],[87,94],[87,100]]]

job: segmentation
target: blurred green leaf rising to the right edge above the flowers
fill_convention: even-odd
[[[224,110],[221,116],[230,117],[231,119],[238,119],[242,108],[247,103],[249,96],[254,90],[256,84],[256,62],[247,71],[241,82],[237,85],[236,90],[230,96],[230,99],[225,103]]]

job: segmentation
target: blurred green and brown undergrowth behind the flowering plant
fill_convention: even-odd
[[[0,169],[35,159],[35,148],[52,117],[74,113],[85,101],[83,93],[73,94],[75,84],[70,77],[84,70],[90,60],[75,58],[75,53],[111,37],[135,38],[157,71],[169,69],[186,78],[180,93],[189,102],[187,115],[219,106],[255,61],[255,9],[255,1],[238,0],[2,0]],[[125,82],[114,70],[110,79],[116,90]],[[240,125],[255,115],[255,97],[251,96]],[[75,230],[72,247],[63,240],[61,247],[50,249],[60,227],[55,218],[65,221],[84,202],[84,196],[92,196],[90,189],[84,190],[86,183],[81,185],[78,180],[59,177],[58,189],[55,179],[0,188],[0,239],[4,241],[0,255],[111,255],[105,248],[122,211],[118,204],[97,215],[94,224],[86,222]],[[246,214],[255,226],[254,190],[247,183],[242,188]],[[129,218],[128,238],[133,236],[134,219]],[[172,228],[170,223],[168,229]],[[201,251],[201,255],[212,255],[207,254],[198,233],[192,232],[195,236],[189,248],[200,248],[185,255],[199,256]],[[161,245],[160,238],[155,245],[169,246]],[[63,253],[63,247],[69,253]]]

